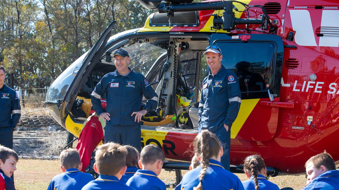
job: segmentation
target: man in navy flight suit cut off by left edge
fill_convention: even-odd
[[[0,66],[0,144],[13,149],[13,131],[21,116],[18,94],[4,83],[6,71]]]

